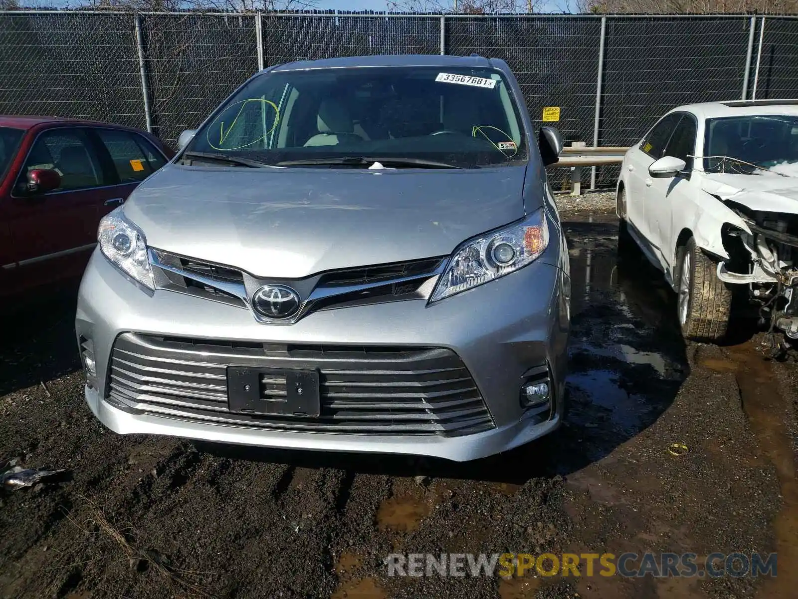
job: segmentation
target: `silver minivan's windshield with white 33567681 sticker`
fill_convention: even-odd
[[[527,159],[512,89],[488,68],[392,66],[264,73],[199,129],[192,161],[480,168]],[[378,168],[378,167],[377,167]]]

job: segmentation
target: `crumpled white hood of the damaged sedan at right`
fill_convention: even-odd
[[[721,200],[732,200],[752,210],[798,214],[798,177],[707,173],[701,188]]]

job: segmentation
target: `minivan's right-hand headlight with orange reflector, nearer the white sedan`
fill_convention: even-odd
[[[543,209],[520,223],[468,240],[452,254],[429,301],[443,300],[517,271],[540,256],[547,245]]]

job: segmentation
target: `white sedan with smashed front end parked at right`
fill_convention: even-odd
[[[619,248],[678,293],[688,339],[721,339],[733,292],[798,339],[798,101],[680,106],[626,153]]]

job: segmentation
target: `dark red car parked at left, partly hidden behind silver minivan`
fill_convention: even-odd
[[[101,217],[172,155],[139,129],[0,116],[0,299],[79,277]]]

